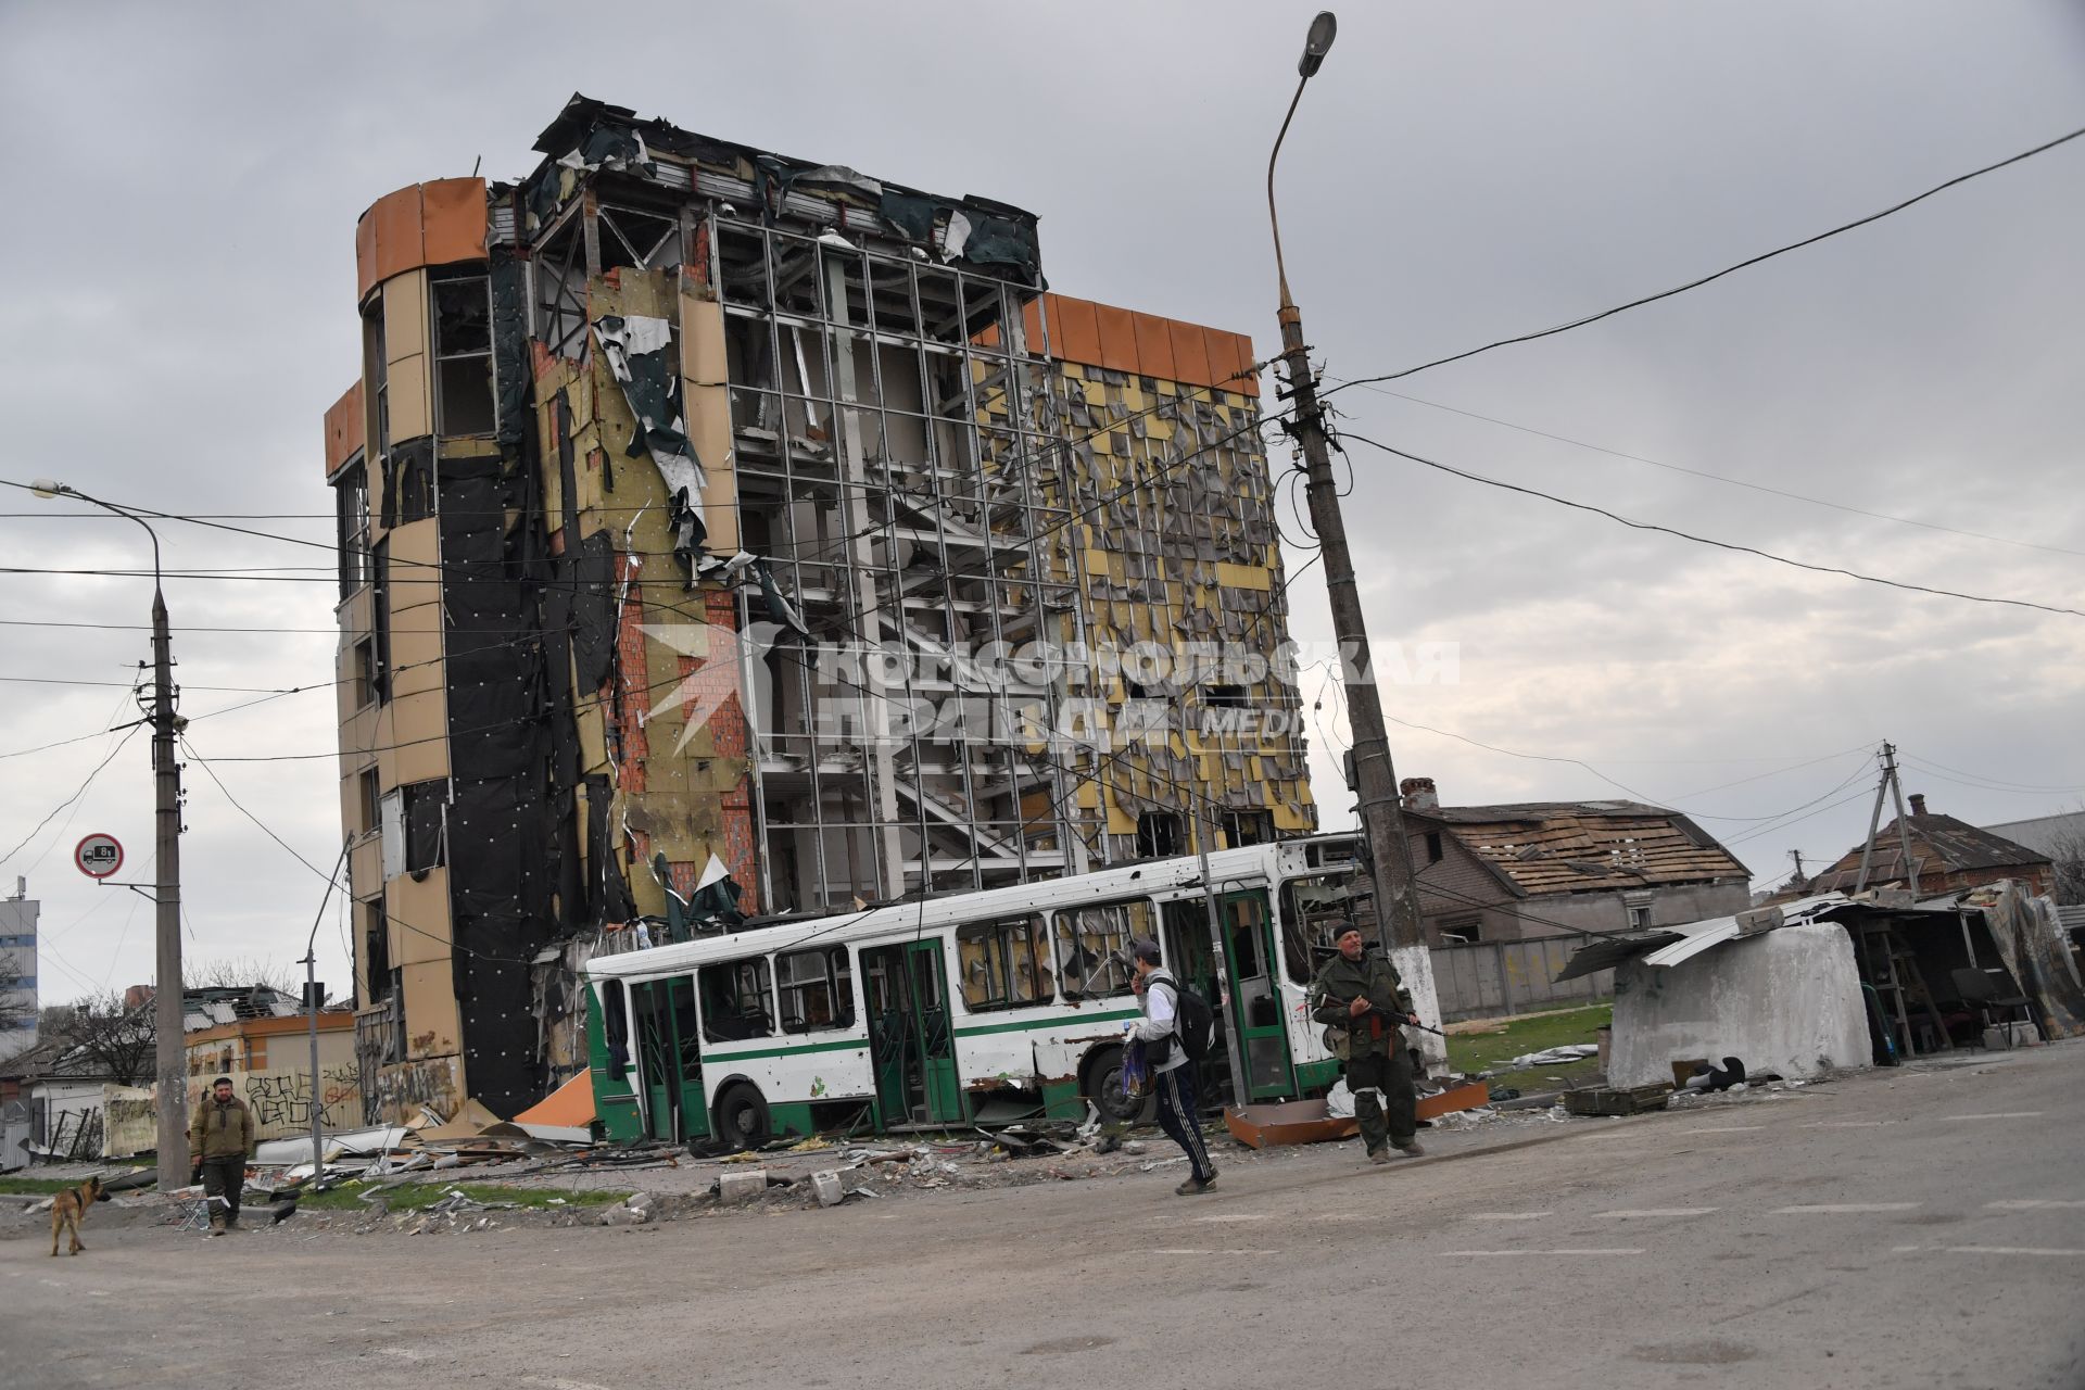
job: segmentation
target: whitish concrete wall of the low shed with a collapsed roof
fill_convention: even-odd
[[[1693,961],[1614,971],[1612,1086],[1670,1082],[1678,1059],[1737,1057],[1808,1079],[1872,1065],[1854,942],[1831,923],[1762,932]]]

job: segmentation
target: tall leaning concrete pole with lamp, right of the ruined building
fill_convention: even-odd
[[[1397,798],[1397,769],[1391,765],[1391,738],[1382,723],[1382,698],[1376,690],[1374,663],[1368,654],[1368,623],[1362,617],[1362,594],[1353,579],[1353,556],[1347,552],[1347,523],[1339,511],[1339,486],[1332,481],[1332,450],[1324,431],[1324,406],[1318,402],[1318,381],[1303,346],[1303,311],[1289,296],[1289,267],[1282,260],[1282,225],[1274,210],[1274,160],[1280,158],[1289,123],[1303,100],[1303,88],[1318,73],[1332,48],[1339,23],[1330,10],[1311,21],[1297,63],[1301,81],[1282,117],[1282,131],[1268,156],[1268,221],[1274,227],[1274,267],[1280,275],[1282,365],[1289,375],[1289,396],[1295,400],[1295,438],[1307,467],[1309,519],[1318,529],[1324,554],[1324,584],[1332,600],[1332,634],[1343,652],[1355,652],[1357,665],[1345,671],[1347,721],[1353,729],[1353,771],[1362,798],[1362,831],[1374,875],[1376,927],[1382,946],[1412,990],[1420,1019],[1439,1027],[1441,1009],[1434,998],[1432,957],[1420,927],[1420,904],[1412,884],[1412,844],[1405,840],[1403,809]],[[1428,1069],[1447,1061],[1445,1044],[1424,1034],[1420,1042]]]

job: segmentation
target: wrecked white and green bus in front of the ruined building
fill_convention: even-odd
[[[1305,986],[1351,911],[1353,836],[1155,859],[859,913],[794,917],[586,965],[596,1113],[615,1140],[738,1146],[819,1130],[961,1125],[980,1115],[1126,1119],[1126,948],[1218,1004],[1247,1100],[1339,1077]],[[1205,1063],[1228,1077],[1226,1048]],[[1216,1094],[1216,1092],[1203,1092]]]

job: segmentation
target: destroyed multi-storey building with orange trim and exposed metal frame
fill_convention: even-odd
[[[357,227],[325,419],[373,1117],[582,1065],[605,932],[1309,831],[1251,344],[1036,219],[573,98]]]

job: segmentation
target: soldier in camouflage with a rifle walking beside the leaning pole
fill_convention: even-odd
[[[1389,1163],[1391,1148],[1418,1157],[1418,1096],[1412,1090],[1412,1054],[1399,1025],[1418,1023],[1412,994],[1397,967],[1364,954],[1362,929],[1345,925],[1334,940],[1339,954],[1324,963],[1309,986],[1311,1017],[1326,1023],[1326,1040],[1347,1044],[1347,1088],[1370,1163]],[[1378,1096],[1382,1100],[1378,1100]],[[1384,1117],[1384,1104],[1389,1117]]]

